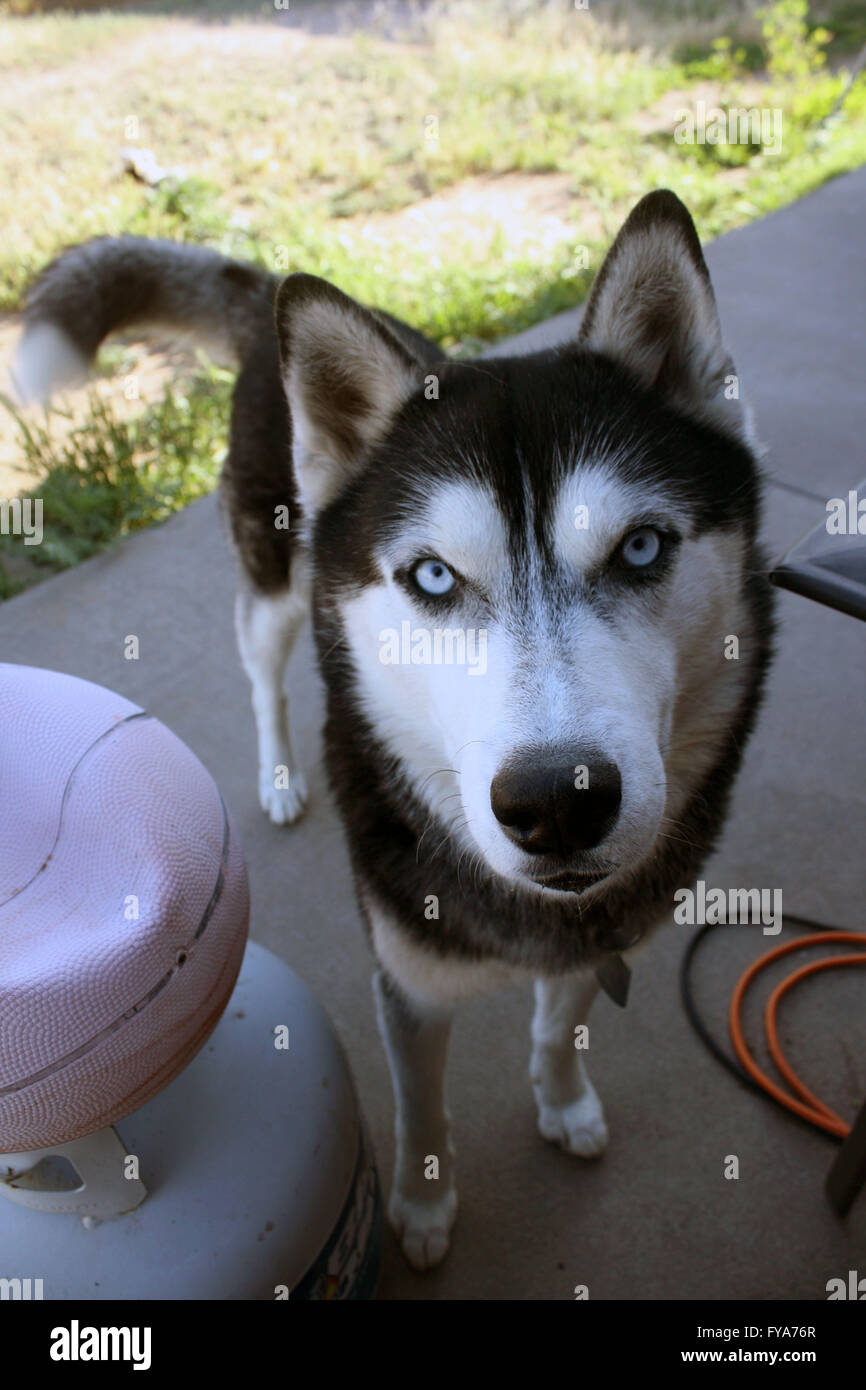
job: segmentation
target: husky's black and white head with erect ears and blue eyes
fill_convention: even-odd
[[[424,847],[532,892],[623,881],[756,660],[758,475],[687,210],[638,204],[560,349],[431,363],[310,275],[277,325],[332,671]]]

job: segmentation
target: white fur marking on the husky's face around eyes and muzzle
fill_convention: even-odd
[[[587,507],[588,527],[574,527],[577,506]],[[581,592],[581,574],[603,566],[623,537],[655,513],[683,535],[662,591],[651,600],[612,578],[599,610]],[[512,842],[491,808],[502,766],[534,748],[553,760],[562,755],[580,763],[585,749],[589,760],[614,763],[621,778],[617,819],[595,849],[575,853],[567,867],[627,874],[653,852],[660,834],[676,835],[664,817],[680,815],[695,785],[694,742],[709,770],[748,670],[748,660],[723,657],[726,634],[742,631],[741,541],[712,532],[691,539],[685,516],[610,467],[585,467],[564,480],[553,538],[557,574],[531,543],[514,574],[493,498],[475,484],[445,484],[381,556],[382,581],[343,605],[364,709],[431,813],[418,862],[438,852],[445,831],[459,853],[467,851],[467,873],[480,852],[491,869],[531,892],[550,890],[531,881],[537,860]],[[482,582],[485,600],[445,592],[442,617],[431,616],[435,609],[393,578],[395,569],[420,555],[435,555],[467,581]],[[566,594],[571,577],[574,582],[567,599],[563,577]],[[481,626],[482,678],[471,680],[466,664],[384,664],[381,634],[405,623],[413,631],[435,623]],[[599,891],[589,887],[585,895]]]

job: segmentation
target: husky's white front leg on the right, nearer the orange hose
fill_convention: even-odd
[[[544,1138],[569,1154],[594,1158],[607,1144],[602,1104],[582,1062],[582,1029],[598,994],[595,974],[535,981],[530,1079]]]

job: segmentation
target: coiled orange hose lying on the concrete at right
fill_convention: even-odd
[[[752,1054],[746,1047],[741,1022],[741,1011],[742,1011],[742,1001],[745,997],[745,991],[748,990],[755,976],[759,974],[759,972],[763,970],[765,966],[770,965],[773,960],[778,960],[780,956],[788,955],[788,952],[791,951],[801,951],[803,947],[824,945],[828,941],[845,942],[847,945],[853,944],[866,948],[866,934],[863,933],[820,931],[817,933],[817,935],[801,937],[796,941],[788,941],[781,947],[776,947],[773,951],[767,951],[767,954],[755,960],[748,967],[748,970],[745,970],[741,974],[740,980],[737,981],[737,988],[734,990],[734,994],[731,997],[728,1026],[737,1056],[740,1058],[740,1062],[742,1063],[748,1074],[752,1077],[752,1080],[758,1083],[758,1086],[760,1086],[765,1091],[767,1091],[767,1094],[771,1095],[773,1099],[777,1101],[780,1105],[784,1105],[787,1109],[794,1111],[794,1113],[799,1115],[802,1119],[809,1120],[810,1125],[816,1125],[819,1129],[826,1130],[828,1134],[834,1134],[838,1138],[844,1138],[847,1134],[849,1134],[851,1125],[845,1123],[845,1120],[841,1119],[834,1111],[831,1111],[828,1105],[824,1105],[824,1102],[819,1099],[817,1095],[813,1095],[812,1091],[798,1077],[794,1068],[785,1061],[785,1056],[781,1051],[781,1045],[778,1041],[778,1033],[776,1029],[776,1015],[778,1011],[778,1004],[783,999],[783,997],[795,984],[798,984],[801,980],[805,980],[806,976],[815,974],[819,970],[833,970],[837,966],[866,965],[866,949],[853,955],[824,956],[820,960],[812,960],[809,965],[801,966],[799,970],[795,970],[792,974],[787,976],[787,979],[784,979],[781,984],[777,984],[770,998],[767,999],[765,1008],[765,1029],[767,1034],[770,1055],[773,1056],[773,1061],[776,1062],[776,1066],[778,1068],[781,1076],[788,1083],[791,1090],[796,1093],[799,1099],[796,1099],[795,1095],[788,1094],[788,1091],[783,1090],[781,1086],[778,1086],[776,1081],[771,1080],[771,1077],[769,1077],[765,1072],[760,1070],[760,1068],[755,1062],[755,1058],[752,1056]]]

